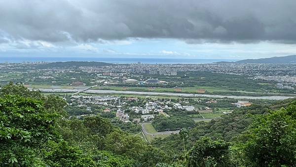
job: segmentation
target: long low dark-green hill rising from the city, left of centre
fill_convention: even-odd
[[[67,61],[67,62],[54,62],[47,64],[40,64],[38,68],[70,68],[70,67],[87,67],[87,66],[115,66],[115,64],[95,62],[95,61]]]

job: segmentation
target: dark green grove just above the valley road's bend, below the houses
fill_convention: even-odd
[[[177,130],[183,127],[193,127],[195,123],[187,117],[165,117],[159,115],[154,118],[152,125],[156,130],[164,131],[166,129]]]

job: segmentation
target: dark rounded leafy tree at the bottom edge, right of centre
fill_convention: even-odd
[[[188,152],[187,167],[231,167],[229,144],[203,137]]]

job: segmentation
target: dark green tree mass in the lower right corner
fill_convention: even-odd
[[[294,167],[296,162],[296,102],[288,109],[258,116],[233,148],[251,167]]]

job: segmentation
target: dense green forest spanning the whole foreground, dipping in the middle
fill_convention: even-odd
[[[271,105],[262,102],[236,109],[152,144],[123,131],[124,125],[112,123],[108,118],[69,119],[66,106],[60,97],[44,96],[21,84],[1,87],[0,166],[295,167],[296,164],[296,101],[277,101]]]

